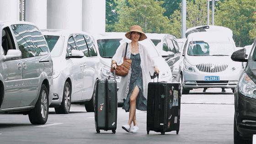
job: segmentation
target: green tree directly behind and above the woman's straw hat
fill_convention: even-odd
[[[139,25],[144,32],[166,33],[170,24],[167,16],[163,16],[165,9],[161,7],[162,1],[155,0],[117,0],[122,6],[118,10],[118,22],[114,31],[127,32],[129,27]],[[125,5],[126,4],[126,5]]]

